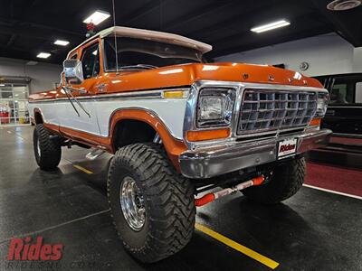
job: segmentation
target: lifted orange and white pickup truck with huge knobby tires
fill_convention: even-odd
[[[272,204],[304,181],[303,153],[326,145],[328,91],[267,65],[205,63],[212,46],[111,27],[69,52],[61,86],[29,98],[43,170],[62,146],[114,154],[111,215],[125,248],[155,262],[184,248],[195,207],[243,191]]]

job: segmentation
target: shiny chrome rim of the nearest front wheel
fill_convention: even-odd
[[[119,201],[123,217],[129,227],[136,231],[142,229],[146,221],[145,203],[138,185],[132,177],[123,178],[120,184]]]

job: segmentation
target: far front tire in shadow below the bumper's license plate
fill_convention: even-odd
[[[243,190],[252,201],[276,204],[291,198],[304,182],[306,163],[304,157],[281,162],[272,170],[269,182]]]

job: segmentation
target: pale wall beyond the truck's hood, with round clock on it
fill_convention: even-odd
[[[307,76],[362,72],[362,47],[354,48],[336,33],[319,35],[294,42],[285,42],[252,51],[233,53],[216,61],[255,64],[281,64],[286,69],[300,71],[300,62],[310,68],[300,71]]]

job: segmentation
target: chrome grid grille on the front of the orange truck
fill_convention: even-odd
[[[307,126],[316,109],[315,92],[245,89],[237,134],[278,132]]]

